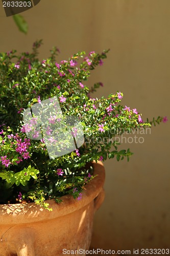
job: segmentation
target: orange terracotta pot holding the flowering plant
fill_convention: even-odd
[[[61,204],[48,200],[51,212],[35,203],[0,205],[0,255],[63,256],[87,250],[94,212],[104,200],[105,169],[101,162],[93,166],[98,176],[85,185],[79,201],[69,195]]]

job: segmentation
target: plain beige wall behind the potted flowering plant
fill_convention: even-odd
[[[41,0],[23,13],[28,35],[17,31],[0,8],[0,51],[28,51],[43,38],[40,57],[56,45],[59,59],[85,50],[110,48],[104,66],[89,84],[102,81],[95,96],[117,90],[123,103],[143,113],[142,118],[169,116],[169,0]],[[170,122],[136,135],[144,143],[124,143],[134,155],[129,163],[105,162],[106,199],[95,215],[93,247],[103,249],[165,248],[170,241]]]

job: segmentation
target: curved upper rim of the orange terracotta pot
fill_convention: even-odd
[[[48,207],[53,208],[53,211],[48,211],[34,202],[11,204],[10,206],[8,204],[2,204],[0,205],[0,224],[29,223],[54,219],[70,214],[89,204],[100,194],[105,181],[103,163],[101,161],[97,163],[93,161],[92,165],[94,170],[93,175],[97,176],[85,185],[81,200],[75,200],[71,195],[61,197],[63,201],[60,204],[57,204],[54,200],[46,200],[45,202],[49,203]]]

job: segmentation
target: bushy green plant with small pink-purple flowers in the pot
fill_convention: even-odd
[[[49,209],[46,199],[60,202],[66,194],[81,199],[93,178],[86,163],[107,157],[129,161],[132,153],[129,148],[118,151],[116,134],[166,118],[144,123],[136,109],[120,104],[122,92],[91,98],[103,84],[88,88],[86,80],[108,51],[87,57],[79,52],[58,63],[54,48],[40,62],[40,44],[34,43],[32,53],[0,54],[0,203],[35,201]],[[72,141],[76,146],[71,150]]]

